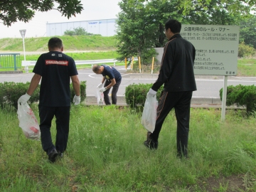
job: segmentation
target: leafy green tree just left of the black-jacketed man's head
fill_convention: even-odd
[[[134,1],[135,9],[127,6],[129,0],[123,0],[119,3],[122,12],[119,13],[117,20],[117,52],[122,55],[121,59],[132,58],[132,56],[143,56],[152,50],[147,48],[154,47],[154,41],[151,41],[154,33],[154,23],[144,17],[146,9],[144,4],[139,1]],[[146,54],[147,55],[147,54]],[[144,63],[144,58],[142,58]]]

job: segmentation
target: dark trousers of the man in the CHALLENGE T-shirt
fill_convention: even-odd
[[[38,108],[43,150],[46,151],[47,154],[53,149],[64,152],[68,143],[70,107],[45,107],[39,105]],[[50,134],[51,122],[54,116],[57,129],[55,146],[53,145]]]

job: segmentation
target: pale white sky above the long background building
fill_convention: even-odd
[[[83,5],[81,14],[70,19],[61,16],[57,10],[48,12],[36,11],[35,16],[28,23],[18,21],[11,26],[4,26],[0,22],[0,38],[22,38],[19,30],[26,29],[26,37],[42,37],[46,36],[46,23],[60,23],[70,21],[91,21],[117,18],[117,14],[121,11],[118,2],[121,0],[80,0]]]

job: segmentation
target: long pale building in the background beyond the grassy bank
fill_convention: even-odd
[[[74,28],[85,28],[87,33],[100,34],[101,36],[114,36],[117,30],[117,18],[92,20],[92,21],[73,21],[63,23],[46,23],[46,36],[63,36],[67,30],[73,31]]]

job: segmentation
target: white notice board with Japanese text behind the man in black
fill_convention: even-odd
[[[195,75],[237,75],[239,26],[182,25],[196,48]]]

